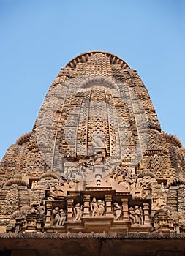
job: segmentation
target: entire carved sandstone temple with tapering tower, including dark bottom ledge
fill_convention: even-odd
[[[80,54],[0,164],[0,255],[184,255],[185,160],[135,69]]]

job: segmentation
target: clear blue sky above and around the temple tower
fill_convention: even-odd
[[[0,37],[0,159],[31,131],[61,67],[89,50],[137,69],[162,129],[185,146],[184,0],[0,0]]]

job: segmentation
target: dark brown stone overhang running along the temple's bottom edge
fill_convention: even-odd
[[[32,249],[39,256],[155,256],[172,251],[180,256],[184,255],[184,241],[185,234],[1,233],[0,252],[6,248]]]

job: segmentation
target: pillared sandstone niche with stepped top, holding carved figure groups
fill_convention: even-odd
[[[151,231],[151,200],[134,200],[111,187],[86,187],[66,197],[45,201],[45,231],[127,233]]]

